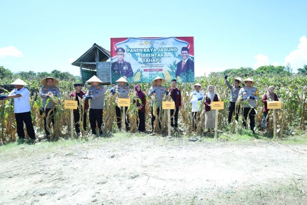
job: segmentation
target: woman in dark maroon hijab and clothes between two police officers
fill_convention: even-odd
[[[146,105],[146,96],[142,91],[141,85],[138,84],[135,86],[135,92],[137,97],[141,100],[136,100],[137,107],[139,109],[139,127],[138,130],[140,132],[145,132],[145,105]]]

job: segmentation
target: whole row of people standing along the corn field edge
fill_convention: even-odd
[[[104,107],[104,94],[105,87],[101,85],[102,81],[97,77],[93,76],[86,81],[90,83],[91,86],[85,93],[82,91],[82,85],[80,83],[75,83],[75,91],[71,93],[70,97],[73,100],[78,101],[80,105],[80,99],[83,100],[82,112],[78,109],[74,110],[74,120],[75,120],[75,130],[76,133],[80,133],[80,118],[82,118],[83,130],[86,131],[86,118],[87,112],[89,110],[89,119],[92,134],[96,135],[96,128],[98,128],[99,134],[102,134],[102,116]],[[118,98],[129,98],[130,88],[127,85],[128,81],[124,77],[120,77],[116,80],[118,85],[109,88],[111,94],[117,94],[116,96],[116,119],[117,126],[121,129],[121,119],[122,119],[122,109],[117,105]],[[42,107],[40,108],[40,114],[43,115],[44,128],[46,136],[50,135],[50,125],[55,123],[55,98],[60,98],[60,90],[57,87],[59,80],[53,77],[46,77],[41,80],[41,89],[39,91],[39,97],[42,98]],[[171,80],[171,87],[166,89],[163,84],[166,80],[161,77],[156,77],[151,82],[151,87],[149,92],[145,94],[142,91],[140,84],[134,87],[134,92],[136,98],[132,103],[136,104],[138,108],[138,130],[140,132],[145,132],[145,113],[146,113],[146,97],[150,98],[151,106],[151,132],[155,132],[155,120],[162,114],[162,101],[165,95],[169,95],[175,104],[175,109],[171,110],[171,127],[178,131],[178,116],[179,111],[182,108],[182,97],[181,90],[177,87],[177,80]],[[225,76],[225,83],[230,90],[230,103],[229,103],[229,114],[228,122],[231,123],[232,120],[238,120],[239,111],[242,109],[243,126],[247,128],[247,119],[250,120],[250,129],[255,133],[255,115],[256,115],[256,100],[259,99],[259,92],[257,88],[254,87],[255,81],[251,78],[242,80],[240,77],[233,79],[233,85],[228,81],[228,76]],[[21,80],[15,80],[11,85],[15,85],[15,89],[12,90],[9,95],[1,95],[0,100],[7,100],[10,98],[14,99],[14,113],[17,127],[17,135],[19,139],[25,138],[24,123],[26,125],[27,133],[31,140],[35,140],[35,132],[32,124],[31,118],[31,107],[29,104],[30,92],[26,86],[27,84]],[[214,86],[209,85],[207,87],[207,92],[202,91],[202,85],[196,83],[192,86],[192,92],[190,92],[189,101],[191,103],[191,116],[192,116],[192,127],[195,130],[198,126],[197,116],[201,112],[201,109],[205,110],[205,129],[208,131],[215,128],[215,112],[211,111],[211,103],[213,101],[219,101],[218,95],[214,91]],[[267,92],[262,97],[263,106],[263,118],[262,127],[266,127],[269,121],[269,109],[267,108],[268,101],[276,101],[278,96],[274,93],[274,87],[270,86]],[[201,106],[202,105],[202,106]],[[240,108],[242,107],[242,108]],[[127,111],[127,107],[124,107]],[[82,116],[80,117],[80,113]],[[234,116],[234,119],[233,119]],[[125,120],[126,130],[129,130],[129,121]],[[158,124],[161,128],[160,120]]]

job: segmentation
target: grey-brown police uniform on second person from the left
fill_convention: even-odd
[[[52,125],[54,125],[54,112],[56,112],[56,108],[54,108],[54,103],[51,100],[50,96],[48,95],[48,92],[52,92],[53,96],[60,98],[61,97],[61,93],[60,93],[60,89],[56,86],[52,86],[52,87],[48,87],[48,86],[42,86],[40,88],[39,91],[39,96],[42,98],[42,109],[44,112],[44,116],[43,116],[43,126],[45,129],[45,133],[46,135],[50,135],[50,132],[47,130],[47,116],[49,111],[51,110],[49,117],[49,125],[48,127],[50,127],[50,124],[52,122]],[[47,100],[50,99],[47,103]]]

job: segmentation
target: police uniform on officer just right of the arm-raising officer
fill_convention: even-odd
[[[243,100],[246,100],[249,105],[243,105],[243,126],[246,127],[246,120],[247,116],[249,115],[250,118],[250,129],[254,132],[255,128],[255,115],[256,115],[256,100],[259,99],[258,90],[255,87],[243,87],[239,91],[239,97],[242,96]],[[255,99],[251,99],[250,96],[254,97]],[[252,110],[250,111],[252,107]]]

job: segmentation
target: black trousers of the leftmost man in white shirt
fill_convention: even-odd
[[[31,139],[36,139],[31,119],[31,112],[15,113],[15,119],[19,139],[25,139],[24,122],[29,137]]]

